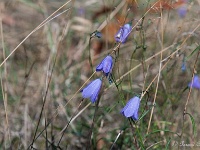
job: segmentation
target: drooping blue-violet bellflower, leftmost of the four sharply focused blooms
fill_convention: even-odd
[[[101,79],[96,79],[90,82],[81,92],[83,98],[90,98],[91,102],[94,103],[97,100],[99,91],[101,89]]]

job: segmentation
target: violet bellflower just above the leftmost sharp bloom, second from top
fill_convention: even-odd
[[[113,60],[110,55],[106,56],[101,63],[96,67],[96,71],[103,71],[103,73],[108,76],[112,70]]]

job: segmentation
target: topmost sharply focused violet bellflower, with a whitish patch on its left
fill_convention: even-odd
[[[117,34],[115,35],[115,40],[117,42],[125,43],[129,34],[131,33],[131,25],[129,23],[125,24],[123,27],[119,29]]]

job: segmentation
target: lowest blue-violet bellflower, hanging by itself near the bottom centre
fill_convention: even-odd
[[[132,99],[130,99],[126,106],[121,110],[121,113],[125,117],[132,117],[133,120],[138,120],[138,110],[140,107],[140,98],[135,96]]]

